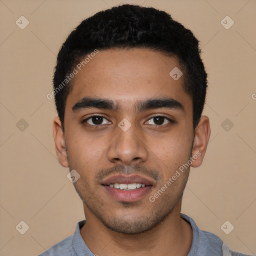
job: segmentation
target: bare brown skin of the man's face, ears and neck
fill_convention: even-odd
[[[73,78],[65,106],[64,133],[59,117],[54,118],[59,163],[80,174],[74,183],[86,218],[80,234],[89,249],[99,256],[189,252],[192,230],[180,218],[189,168],[154,202],[149,201],[149,196],[161,189],[196,152],[200,155],[191,166],[201,164],[210,135],[207,116],[201,116],[193,133],[192,99],[183,88],[183,77],[174,80],[169,75],[175,66],[179,67],[176,57],[151,49],[100,50]],[[83,97],[111,99],[118,107],[73,111],[72,107]],[[151,98],[175,99],[183,109],[136,109],[135,102]],[[106,119],[97,126],[92,119],[82,123],[91,114]],[[161,124],[154,116],[165,116],[173,122],[160,118],[164,121]],[[126,131],[118,126],[123,118],[131,124]],[[137,173],[149,179],[152,187],[137,201],[115,200],[101,181],[119,173]]]

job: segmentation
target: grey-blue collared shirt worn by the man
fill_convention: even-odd
[[[193,232],[191,248],[187,256],[246,256],[239,252],[230,250],[222,240],[215,234],[203,231],[197,227],[192,218],[181,213],[180,216],[190,223]],[[94,256],[80,235],[80,228],[85,220],[76,224],[75,232],[54,244],[38,256]],[[97,253],[97,252],[95,252]],[[100,252],[98,252],[100,256]]]

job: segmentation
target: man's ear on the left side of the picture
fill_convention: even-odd
[[[68,167],[65,138],[64,138],[64,133],[61,126],[61,121],[58,116],[56,116],[53,119],[53,137],[54,137],[55,150],[58,157],[58,162],[63,167]]]

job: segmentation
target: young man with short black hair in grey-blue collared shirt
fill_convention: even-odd
[[[53,133],[86,222],[41,255],[245,255],[180,213],[210,136],[199,52],[169,14],[135,5],[69,34],[53,78]]]

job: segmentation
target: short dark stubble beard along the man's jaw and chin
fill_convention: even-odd
[[[190,149],[190,156],[191,155],[192,147]],[[71,167],[72,164],[70,162],[68,154],[67,159],[69,163],[69,170],[72,170],[73,168]],[[159,171],[157,170],[154,170],[154,172],[159,173]],[[141,211],[144,211],[144,208],[148,207],[147,205],[140,211],[137,210],[138,213],[131,217],[125,215],[125,208],[131,208],[133,206],[132,203],[120,203],[120,206],[124,208],[124,214],[122,216],[114,216],[107,213],[107,205],[105,205],[102,199],[96,195],[93,188],[90,189],[89,183],[82,176],[80,176],[80,178],[76,182],[74,182],[73,185],[86,208],[108,229],[123,234],[139,234],[156,227],[159,223],[166,219],[166,217],[171,214],[173,210],[177,207],[179,207],[178,210],[180,211],[181,199],[188,179],[189,168],[186,170],[186,173],[183,174],[185,174],[185,176],[183,177],[182,185],[179,187],[175,198],[173,198],[172,193],[168,194],[164,192],[166,194],[162,194],[161,196],[159,196],[156,201],[150,202],[148,200],[147,205],[151,207],[151,210],[149,209],[146,214],[139,215]],[[158,181],[160,180],[161,185],[159,185],[158,189],[160,189],[164,183],[161,177],[159,177]],[[175,184],[173,183],[168,189],[171,190],[171,187],[173,185],[175,186]]]

